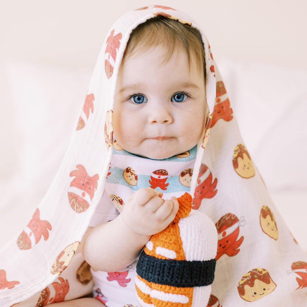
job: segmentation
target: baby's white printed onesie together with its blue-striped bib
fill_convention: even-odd
[[[197,146],[178,156],[154,160],[123,150],[116,141],[114,145],[105,191],[89,227],[113,220],[122,211],[126,200],[140,188],[151,187],[161,191],[163,199],[180,197],[190,191]],[[140,306],[134,283],[137,262],[138,258],[120,272],[91,268],[93,296],[107,307]]]

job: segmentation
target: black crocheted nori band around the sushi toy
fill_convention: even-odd
[[[160,285],[201,287],[212,284],[215,266],[215,258],[206,261],[158,259],[142,250],[136,272],[148,282]]]

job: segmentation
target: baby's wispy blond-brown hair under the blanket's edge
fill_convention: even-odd
[[[193,52],[196,63],[201,64],[196,65],[197,72],[200,76],[204,72],[204,79],[206,78],[204,44],[199,30],[162,15],[147,19],[132,30],[123,59],[132,56],[136,51],[141,52],[157,45],[162,45],[167,50],[165,60],[161,64],[170,60],[176,47],[183,47],[188,55],[189,72]]]

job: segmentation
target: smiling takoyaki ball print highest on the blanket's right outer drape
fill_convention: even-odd
[[[236,173],[242,178],[255,176],[255,169],[251,157],[243,144],[235,146],[232,164]]]

